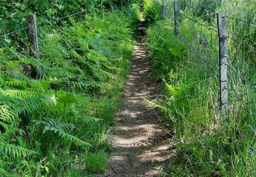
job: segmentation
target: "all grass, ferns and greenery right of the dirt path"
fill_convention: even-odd
[[[145,18],[152,65],[162,80],[159,108],[173,131],[176,147],[167,174],[171,176],[255,176],[255,49],[248,40],[228,40],[229,118],[221,118],[218,81],[218,37],[215,12],[255,22],[253,1],[178,1],[180,36],[174,36],[173,1],[163,19],[160,5],[145,0]],[[249,5],[251,4],[251,5]],[[215,25],[215,31],[211,26]],[[255,39],[255,27],[227,18],[229,32]],[[210,27],[210,28],[209,28]],[[236,36],[229,33],[229,37]],[[246,48],[246,50],[244,50]],[[244,57],[246,56],[246,57]],[[254,60],[255,62],[255,60]],[[233,66],[236,66],[233,69]],[[250,74],[248,74],[250,68]],[[238,71],[236,73],[236,71]],[[244,78],[242,78],[242,76]],[[248,76],[250,75],[250,77]],[[176,141],[175,141],[176,140]]]

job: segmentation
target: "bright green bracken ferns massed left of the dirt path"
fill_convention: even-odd
[[[107,103],[118,96],[117,82],[123,79],[132,54],[128,32],[132,19],[119,12],[110,13],[106,20],[87,18],[91,20],[38,27],[40,61],[29,57],[23,33],[0,47],[0,176],[8,172],[43,176],[44,171],[48,176],[63,176],[66,168],[59,169],[63,159],[72,161],[78,152],[85,155],[90,142],[94,150],[103,148],[97,144],[109,120],[86,115],[109,117],[109,112],[100,111],[115,107]],[[33,69],[40,63],[44,78],[34,80]],[[70,154],[62,153],[63,149]],[[47,159],[25,161],[37,152]],[[51,164],[54,170],[48,169]]]

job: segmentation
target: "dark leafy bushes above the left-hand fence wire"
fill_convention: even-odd
[[[0,34],[4,35],[6,32],[15,31],[25,27],[25,15],[36,14],[38,22],[53,22],[57,18],[74,14],[76,12],[85,11],[83,4],[87,5],[87,11],[90,13],[100,12],[102,9],[113,10],[121,8],[122,5],[129,3],[136,3],[137,0],[17,0],[17,1],[0,1]],[[100,12],[101,13],[101,12]],[[59,22],[54,22],[54,24]],[[18,36],[17,36],[18,35]],[[25,42],[24,33],[14,35],[14,39],[22,37],[22,42]],[[10,39],[5,39],[6,42],[11,42]]]

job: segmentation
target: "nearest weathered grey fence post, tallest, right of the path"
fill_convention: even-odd
[[[227,85],[227,31],[225,27],[225,14],[218,13],[218,38],[219,38],[219,77],[220,77],[220,99],[223,118],[227,118],[228,111],[228,85]]]

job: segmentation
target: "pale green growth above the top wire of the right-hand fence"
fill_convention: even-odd
[[[231,17],[226,20],[227,29],[231,33],[236,33],[237,35],[255,41],[256,33],[253,28],[255,25],[249,25],[249,23],[255,24],[256,20],[255,14],[252,13],[255,12],[256,8],[254,0],[179,0],[177,2],[179,3],[180,10],[186,14],[191,14],[196,17],[199,16],[214,25],[216,24],[216,13],[224,12],[227,16]],[[232,18],[244,20],[244,22]],[[237,38],[235,35],[231,35],[231,33],[230,37]],[[248,42],[244,43],[247,44]],[[255,48],[255,46],[253,46],[253,48]]]

